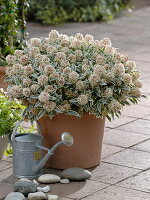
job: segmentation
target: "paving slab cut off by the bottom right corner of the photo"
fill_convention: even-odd
[[[123,187],[110,186],[96,192],[83,200],[149,200],[150,193],[131,190]]]

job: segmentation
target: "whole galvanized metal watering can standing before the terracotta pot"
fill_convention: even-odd
[[[70,133],[64,132],[61,141],[55,144],[51,149],[42,146],[43,136],[41,135],[41,126],[38,125],[38,133],[17,133],[18,126],[23,121],[16,124],[11,135],[11,144],[13,148],[13,175],[18,178],[36,178],[42,174],[42,168],[46,161],[54,154],[55,149],[61,144],[71,146],[73,137]],[[42,158],[42,150],[47,154]]]

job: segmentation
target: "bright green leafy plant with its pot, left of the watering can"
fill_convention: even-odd
[[[10,101],[3,89],[0,89],[0,159],[9,143],[15,122],[21,119],[21,106],[17,100]]]

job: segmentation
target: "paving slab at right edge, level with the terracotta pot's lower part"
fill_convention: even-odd
[[[119,153],[104,158],[103,161],[144,170],[150,167],[150,153],[125,149]]]

